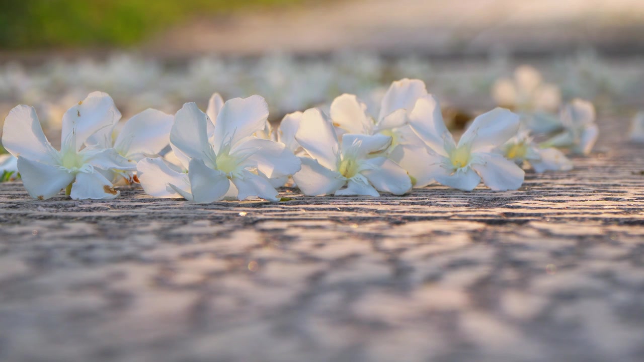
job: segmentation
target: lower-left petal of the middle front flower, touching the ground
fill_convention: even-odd
[[[330,195],[345,186],[346,180],[339,172],[332,171],[311,158],[300,157],[300,160],[302,168],[293,175],[293,180],[304,195]]]

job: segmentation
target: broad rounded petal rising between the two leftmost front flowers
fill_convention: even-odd
[[[135,161],[146,155],[156,155],[170,143],[173,122],[173,116],[148,108],[126,122],[114,148]]]

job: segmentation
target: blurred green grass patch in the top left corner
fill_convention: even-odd
[[[0,48],[131,45],[194,16],[303,0],[0,0]]]

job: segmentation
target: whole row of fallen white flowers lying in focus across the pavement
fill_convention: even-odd
[[[530,89],[538,89],[537,80]],[[198,203],[279,201],[277,188],[291,178],[310,196],[403,195],[434,182],[464,191],[483,182],[505,191],[522,185],[522,164],[537,172],[571,169],[554,147],[587,154],[597,136],[592,104],[574,100],[554,136],[536,144],[525,121],[535,110],[526,106],[534,92],[521,92],[522,113],[483,113],[458,142],[437,97],[418,79],[393,82],[375,117],[357,96],[343,94],[328,112],[289,113],[276,129],[259,95],[224,101],[215,93],[205,112],[186,103],[174,117],[148,109],[121,124],[111,97],[93,92],[62,116],[60,151],[30,106],[10,111],[2,140],[24,187],[41,200],[62,190],[76,200],[111,199],[120,184],[140,183],[151,196]]]

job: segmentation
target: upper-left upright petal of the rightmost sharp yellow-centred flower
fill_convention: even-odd
[[[409,123],[427,146],[430,146],[434,152],[445,155],[444,137],[451,137],[451,133],[442,119],[440,104],[436,97],[426,95],[418,99],[410,112]]]

